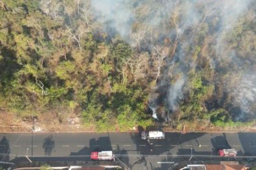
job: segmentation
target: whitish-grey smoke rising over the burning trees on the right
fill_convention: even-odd
[[[246,114],[255,114],[255,71],[247,74],[252,69],[255,60],[249,61],[247,68],[242,68],[247,62],[239,56],[239,50],[227,47],[227,39],[230,32],[236,29],[239,18],[249,11],[253,1],[129,1],[129,0],[93,0],[94,16],[104,25],[107,32],[115,30],[120,36],[134,46],[131,34],[140,35],[137,44],[142,50],[152,53],[156,45],[169,47],[168,57],[163,60],[161,75],[152,90],[152,98],[149,106],[153,117],[169,118],[168,114],[158,112],[158,107],[165,107],[166,112],[179,109],[179,101],[182,100],[185,88],[188,84],[188,74],[196,70],[198,66],[195,55],[195,46],[202,46],[204,41],[200,40],[202,34],[210,35],[209,47],[211,53],[205,55],[210,67],[215,69],[218,75],[235,75],[237,69],[244,69],[244,73],[236,84],[230,84],[226,80],[226,90],[230,86],[234,90],[229,94],[235,97],[234,105],[241,108],[240,115],[236,119],[246,117]],[[143,10],[141,10],[143,9]],[[138,13],[140,12],[140,13]],[[252,12],[255,19],[255,12]],[[139,24],[143,29],[133,29]],[[243,25],[242,25],[243,27]],[[174,44],[176,43],[174,53]],[[241,44],[243,46],[243,44]],[[200,50],[199,50],[200,51]],[[254,53],[255,54],[255,53]],[[224,63],[225,61],[225,63]],[[225,65],[225,69],[224,68]],[[229,65],[226,67],[226,65]],[[212,80],[218,86],[219,80]],[[217,83],[217,84],[216,84]],[[227,90],[228,91],[228,90]]]

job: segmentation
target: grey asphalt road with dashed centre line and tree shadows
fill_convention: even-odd
[[[164,140],[152,140],[153,151],[150,151],[149,144],[138,133],[0,134],[0,161],[26,155],[32,160],[60,157],[90,160],[91,151],[114,150],[116,157],[130,169],[163,169],[178,155],[214,158],[216,151],[224,148],[235,148],[238,156],[256,156],[256,133],[166,132],[165,136]]]

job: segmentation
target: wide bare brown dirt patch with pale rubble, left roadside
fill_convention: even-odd
[[[0,114],[1,132],[93,132],[93,127],[83,126],[76,114],[48,113],[36,117],[21,118],[16,114]]]

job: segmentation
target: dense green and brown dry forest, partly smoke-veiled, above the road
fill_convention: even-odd
[[[254,123],[255,16],[249,0],[0,0],[2,120]]]

